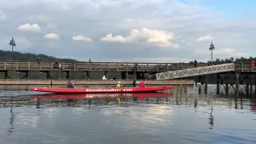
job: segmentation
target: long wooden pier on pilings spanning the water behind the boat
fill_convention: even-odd
[[[175,71],[181,69],[191,69],[195,67],[207,67],[213,66],[218,64],[189,64],[189,63],[125,63],[125,62],[59,62],[59,61],[0,61],[0,72],[4,73],[4,78],[1,81],[1,84],[19,84],[19,83],[38,83],[43,84],[50,83],[49,80],[52,80],[52,83],[59,83],[57,80],[66,80],[69,79],[70,72],[81,72],[82,79],[78,80],[81,81],[83,84],[87,83],[111,83],[111,82],[103,82],[103,81],[91,81],[89,73],[96,73],[96,72],[103,72],[108,74],[110,72],[120,72],[122,80],[128,80],[128,75],[134,76],[132,80],[139,80],[139,79],[148,79],[148,77],[144,77],[146,75],[154,75],[158,72],[168,72],[168,71]],[[39,79],[41,82],[29,80],[29,72],[39,73]],[[16,73],[16,76],[11,77],[9,75],[10,72]],[[23,72],[23,76],[20,76]],[[52,78],[50,73],[55,72],[57,78]],[[252,81],[252,75],[256,73],[256,67],[251,62],[238,62],[235,63],[235,71],[228,72],[229,74],[236,74],[236,84],[246,83],[254,84]],[[223,75],[226,73],[222,73],[219,75]],[[246,74],[245,80],[241,80],[239,78],[240,74]],[[102,75],[103,76],[103,75]],[[238,77],[238,78],[237,78]],[[130,78],[131,79],[131,78]],[[217,77],[218,80],[221,80],[221,83],[233,83],[229,79],[232,78],[220,78]],[[13,81],[12,81],[13,80]],[[25,81],[21,81],[25,80]],[[228,81],[229,82],[224,82]],[[232,79],[233,80],[233,79]],[[162,81],[161,81],[162,82]],[[161,83],[160,82],[160,83]],[[200,82],[205,83],[207,86],[207,76],[203,75],[200,76]],[[64,82],[61,82],[64,83]],[[131,82],[129,82],[131,83]],[[153,83],[153,82],[152,82]],[[158,82],[154,82],[158,83]],[[175,82],[176,83],[176,82]],[[171,85],[175,85],[175,83],[171,83]],[[187,83],[184,81],[184,83]],[[182,83],[183,85],[186,85]],[[112,84],[112,83],[111,83]]]

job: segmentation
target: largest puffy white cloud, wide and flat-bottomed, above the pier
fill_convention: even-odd
[[[133,29],[127,37],[122,35],[113,36],[111,33],[105,37],[101,37],[102,41],[119,42],[119,43],[134,43],[134,44],[149,44],[159,47],[179,48],[179,44],[173,44],[171,40],[175,37],[172,32],[159,31],[154,29],[143,28],[141,30]]]

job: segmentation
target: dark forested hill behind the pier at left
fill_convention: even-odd
[[[13,51],[13,60],[15,61],[36,61],[40,57],[41,61],[77,61],[75,59],[61,59],[45,54],[20,53]],[[11,61],[11,51],[0,50],[0,61]]]

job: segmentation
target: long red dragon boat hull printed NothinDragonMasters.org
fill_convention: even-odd
[[[30,88],[30,90],[48,93],[144,93],[163,91],[171,88],[173,88],[173,86],[146,88]]]

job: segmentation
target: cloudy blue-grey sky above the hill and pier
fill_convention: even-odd
[[[0,49],[82,61],[256,57],[255,0],[0,0]]]

